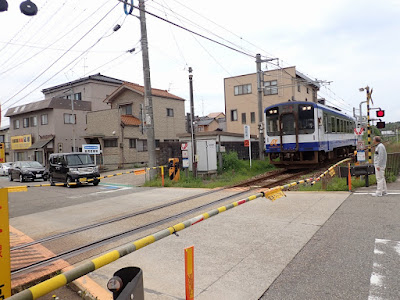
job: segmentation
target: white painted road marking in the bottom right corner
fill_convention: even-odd
[[[400,242],[375,239],[368,300],[398,299]]]

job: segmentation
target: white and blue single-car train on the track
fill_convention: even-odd
[[[321,103],[275,104],[265,109],[264,118],[265,150],[277,166],[317,165],[356,148],[355,119]]]

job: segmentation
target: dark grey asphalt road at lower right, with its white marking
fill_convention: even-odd
[[[260,299],[400,299],[400,194],[353,194]]]

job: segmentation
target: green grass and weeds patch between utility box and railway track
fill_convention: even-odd
[[[166,187],[185,187],[185,188],[216,188],[234,185],[251,177],[263,174],[275,167],[268,160],[252,160],[252,167],[248,160],[240,160],[236,152],[230,152],[223,155],[223,167],[218,170],[218,175],[212,178],[194,178],[191,173],[188,176],[185,172],[180,173],[180,180],[175,182],[165,175]],[[143,186],[157,187],[161,186],[161,178],[158,177],[152,181],[147,181]]]

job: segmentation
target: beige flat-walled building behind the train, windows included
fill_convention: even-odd
[[[263,109],[292,100],[317,102],[320,87],[296,67],[265,71],[262,86]],[[243,134],[243,125],[250,125],[251,134],[258,135],[257,74],[225,78],[224,89],[227,131]]]

